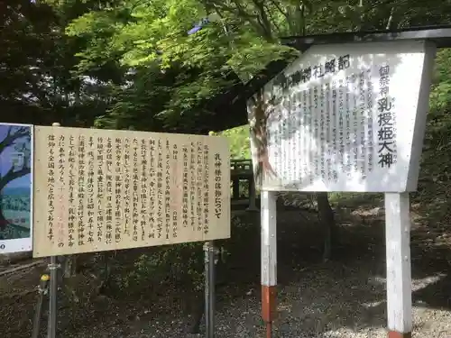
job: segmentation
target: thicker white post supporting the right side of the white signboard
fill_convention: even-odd
[[[387,316],[389,338],[410,338],[412,282],[410,267],[409,193],[385,194]]]

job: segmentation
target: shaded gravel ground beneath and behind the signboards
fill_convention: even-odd
[[[278,233],[280,286],[274,337],[386,338],[382,223],[381,219],[368,221],[368,216],[365,217],[366,223],[358,227],[349,225],[353,224],[352,220],[341,224],[340,245],[333,260],[327,263],[319,261],[320,240],[312,240],[320,239],[318,224],[312,222],[307,228],[300,228],[298,224],[290,227],[290,220],[299,219],[299,215],[290,213],[278,220],[281,224]],[[436,245],[430,245],[431,238],[439,237],[432,230],[425,230],[418,224],[412,231],[413,337],[449,338],[451,275],[446,273],[451,271],[451,245],[436,240],[432,241]],[[234,279],[218,289],[216,338],[264,336],[259,252],[256,248],[247,248],[247,254],[249,252],[253,253],[253,258],[249,259],[253,269],[244,267],[238,273],[253,273],[253,277],[245,282]],[[39,273],[39,269],[31,269],[0,279],[2,337],[30,336],[35,296],[26,293],[26,289],[34,288]],[[16,296],[8,296],[12,293]],[[82,300],[75,312],[61,309],[60,337],[201,337],[202,334],[186,333],[190,318],[182,304],[188,294],[187,290],[172,292],[168,289],[157,301],[127,303],[113,297]],[[70,318],[77,319],[70,324]],[[201,327],[202,332],[203,329]]]

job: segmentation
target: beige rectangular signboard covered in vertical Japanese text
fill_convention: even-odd
[[[37,126],[33,256],[230,237],[225,138]]]

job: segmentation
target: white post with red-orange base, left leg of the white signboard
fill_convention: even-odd
[[[272,322],[276,313],[277,285],[277,211],[276,192],[262,191],[262,319],[266,337],[272,337]]]

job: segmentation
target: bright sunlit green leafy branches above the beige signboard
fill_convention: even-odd
[[[77,54],[78,74],[133,69],[133,77],[125,77],[129,86],[116,88],[118,99],[97,125],[122,128],[146,116],[166,129],[194,128],[193,117],[214,113],[207,102],[225,93],[235,74],[250,78],[269,61],[292,54],[262,39],[233,9],[223,13],[220,22],[193,35],[187,35],[193,23],[207,15],[206,4],[196,0],[122,1],[73,20],[66,32],[86,42]]]

